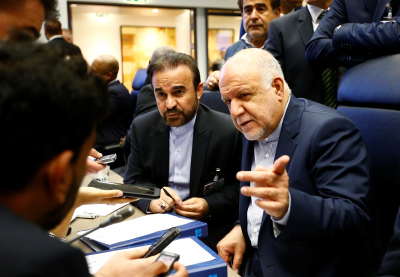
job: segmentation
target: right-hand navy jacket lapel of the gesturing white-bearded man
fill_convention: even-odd
[[[278,145],[276,146],[276,152],[274,160],[282,155],[288,155],[290,157],[293,156],[294,150],[296,149],[297,142],[292,139],[299,132],[298,126],[300,125],[300,118],[298,116],[299,109],[301,111],[304,109],[303,104],[294,97],[293,94],[290,95],[290,101],[286,109],[286,113],[284,115],[282,128],[279,134]],[[290,160],[286,164],[286,171],[289,170]],[[261,225],[264,223],[266,218],[266,213],[264,212],[262,215]]]

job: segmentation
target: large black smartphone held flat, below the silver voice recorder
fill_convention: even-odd
[[[141,199],[158,199],[160,193],[158,187],[137,184],[91,181],[87,186],[97,187],[100,189],[119,189],[122,190],[123,196],[125,197]]]

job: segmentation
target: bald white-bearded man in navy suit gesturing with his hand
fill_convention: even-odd
[[[255,276],[376,270],[369,158],[354,123],[290,94],[279,63],[260,49],[227,60],[219,88],[246,139],[236,175],[240,226],[218,243],[218,254],[233,256],[235,270],[243,261]]]

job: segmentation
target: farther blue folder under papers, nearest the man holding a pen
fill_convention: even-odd
[[[181,218],[186,218],[177,214],[171,214],[173,216],[181,217]],[[145,215],[144,215],[145,216]],[[207,223],[198,221],[198,220],[193,220],[189,223],[179,225],[180,228],[180,234],[179,237],[187,237],[187,236],[195,236],[198,238],[206,237],[208,235],[208,226]],[[121,248],[121,247],[133,247],[142,243],[145,244],[151,244],[155,240],[157,240],[161,235],[163,235],[168,229],[156,231],[153,233],[149,233],[143,236],[131,238],[128,240],[124,241],[119,241],[113,244],[106,244],[104,242],[94,240],[91,238],[88,238],[86,236],[80,238],[80,240],[86,244],[90,249],[93,251],[102,251],[102,250],[109,250],[109,249],[116,249],[116,248]]]

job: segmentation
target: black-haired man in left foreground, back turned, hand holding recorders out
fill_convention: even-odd
[[[94,75],[77,73],[72,58],[46,44],[0,45],[0,56],[0,143],[7,145],[0,188],[1,275],[88,277],[83,253],[46,230],[74,203],[95,125],[107,105],[105,85]],[[26,154],[21,145],[27,138],[34,161],[16,176],[12,172]],[[146,250],[114,255],[96,275],[165,272],[162,262],[153,263],[155,257],[139,258]],[[187,276],[183,266],[174,267],[178,276]]]

